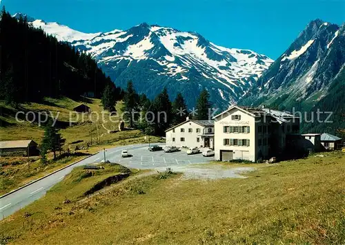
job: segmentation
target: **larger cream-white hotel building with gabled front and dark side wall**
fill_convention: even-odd
[[[215,159],[268,159],[286,149],[286,135],[299,133],[299,118],[283,111],[233,106],[215,120]]]

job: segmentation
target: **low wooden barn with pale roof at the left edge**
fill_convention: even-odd
[[[0,156],[37,156],[39,150],[34,140],[0,141]]]

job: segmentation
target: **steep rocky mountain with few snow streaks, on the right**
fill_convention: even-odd
[[[344,72],[345,24],[316,19],[250,89],[244,103],[311,108]]]

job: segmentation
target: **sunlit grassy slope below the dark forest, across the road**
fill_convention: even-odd
[[[59,100],[52,98],[45,98],[43,103],[26,103],[21,104],[19,107],[14,108],[9,105],[5,105],[3,102],[0,102],[0,122],[1,131],[0,139],[1,140],[19,140],[19,139],[33,139],[37,143],[40,143],[43,137],[43,126],[39,127],[38,122],[35,121],[30,123],[26,121],[26,118],[23,118],[21,115],[21,120],[25,122],[17,122],[15,115],[17,111],[23,111],[25,114],[28,111],[33,111],[34,114],[38,115],[39,111],[51,111],[53,116],[58,117],[57,125],[61,127],[61,133],[63,138],[66,138],[66,143],[70,144],[76,140],[83,140],[86,142],[96,142],[97,141],[97,126],[99,129],[99,141],[108,142],[115,141],[115,139],[122,138],[122,134],[117,132],[115,134],[108,134],[107,130],[102,127],[101,118],[97,121],[97,116],[92,114],[91,120],[88,117],[84,117],[84,120],[81,120],[81,114],[79,114],[78,122],[74,123],[74,120],[77,120],[76,114],[73,113],[72,108],[84,103],[91,108],[91,111],[101,115],[102,106],[99,99],[94,98],[80,98],[79,101],[72,100],[70,98],[61,98]],[[117,111],[121,114],[122,103],[117,103]],[[70,114],[72,115],[70,117]],[[70,118],[72,118],[72,126],[70,126]],[[29,118],[30,120],[32,118]],[[108,120],[108,117],[106,117]],[[114,118],[118,120],[119,118]],[[108,122],[104,123],[104,126],[107,129],[118,129],[118,122]],[[126,131],[125,138],[140,136],[139,131]]]

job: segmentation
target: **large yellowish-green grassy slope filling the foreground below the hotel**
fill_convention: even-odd
[[[70,175],[1,221],[0,235],[10,244],[344,244],[344,162],[333,152],[257,164],[248,178],[149,175],[90,198],[72,193],[83,182]]]

